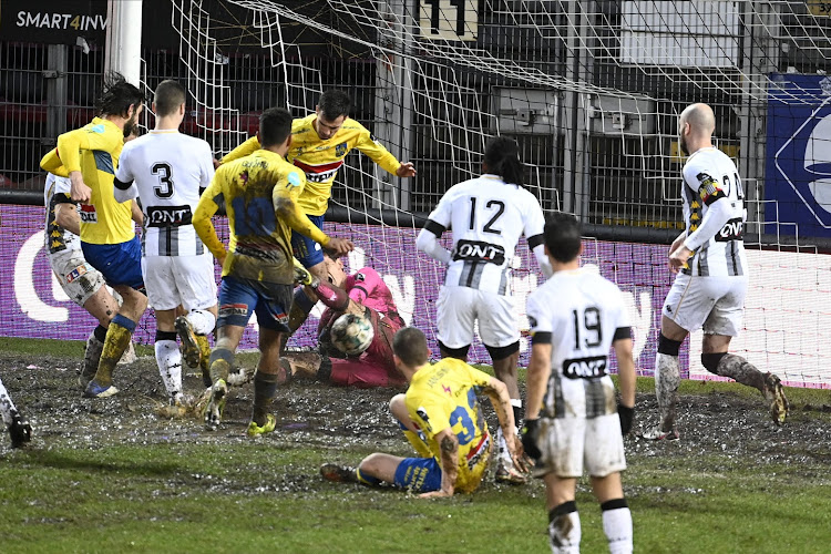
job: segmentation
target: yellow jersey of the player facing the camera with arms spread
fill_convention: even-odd
[[[347,120],[335,135],[326,141],[318,136],[312,123],[317,114],[294,120],[291,123],[291,145],[286,160],[306,173],[306,188],[300,194],[300,209],[308,215],[324,215],[331,197],[331,186],[343,158],[352,148],[358,148],[375,163],[391,174],[401,165],[396,156],[376,141],[369,130],[355,120]],[[238,160],[259,150],[256,136],[234,148],[223,163]]]

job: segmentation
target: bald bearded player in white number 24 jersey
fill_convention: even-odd
[[[708,371],[758,389],[777,424],[788,400],[779,378],[762,373],[745,358],[727,353],[739,334],[748,286],[742,242],[745,193],[736,164],[712,146],[716,117],[707,104],[693,104],[678,119],[679,145],[687,154],[681,201],[687,228],[669,248],[669,268],[678,275],[664,301],[655,361],[660,422],[644,433],[650,440],[677,440],[676,404],[680,381],[678,349],[687,335],[704,329],[701,363]]]

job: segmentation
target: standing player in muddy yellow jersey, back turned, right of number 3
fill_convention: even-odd
[[[199,238],[223,265],[218,339],[211,353],[213,392],[205,423],[208,429],[219,424],[234,352],[254,311],[259,324],[260,359],[254,377],[249,435],[275,428],[269,409],[279,381],[279,347],[283,334],[288,331],[287,312],[295,284],[291,232],[340,254],[352,249],[351,242],[327,236],[298,206],[306,177],[285,161],[291,144],[291,114],[284,109],[266,110],[259,120],[258,136],[263,148],[223,164],[193,216]],[[220,199],[225,201],[230,229],[227,253],[211,223]],[[310,283],[310,275],[305,270],[302,274]]]

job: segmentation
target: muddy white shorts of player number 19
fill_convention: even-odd
[[[597,418],[540,418],[540,451],[534,476],[554,473],[579,478],[583,468],[593,478],[626,469],[626,455],[617,413]]]

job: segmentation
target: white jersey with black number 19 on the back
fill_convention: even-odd
[[[529,295],[527,317],[532,343],[552,346],[542,416],[615,413],[609,349],[616,339],[632,337],[620,289],[597,266],[556,271]]]

